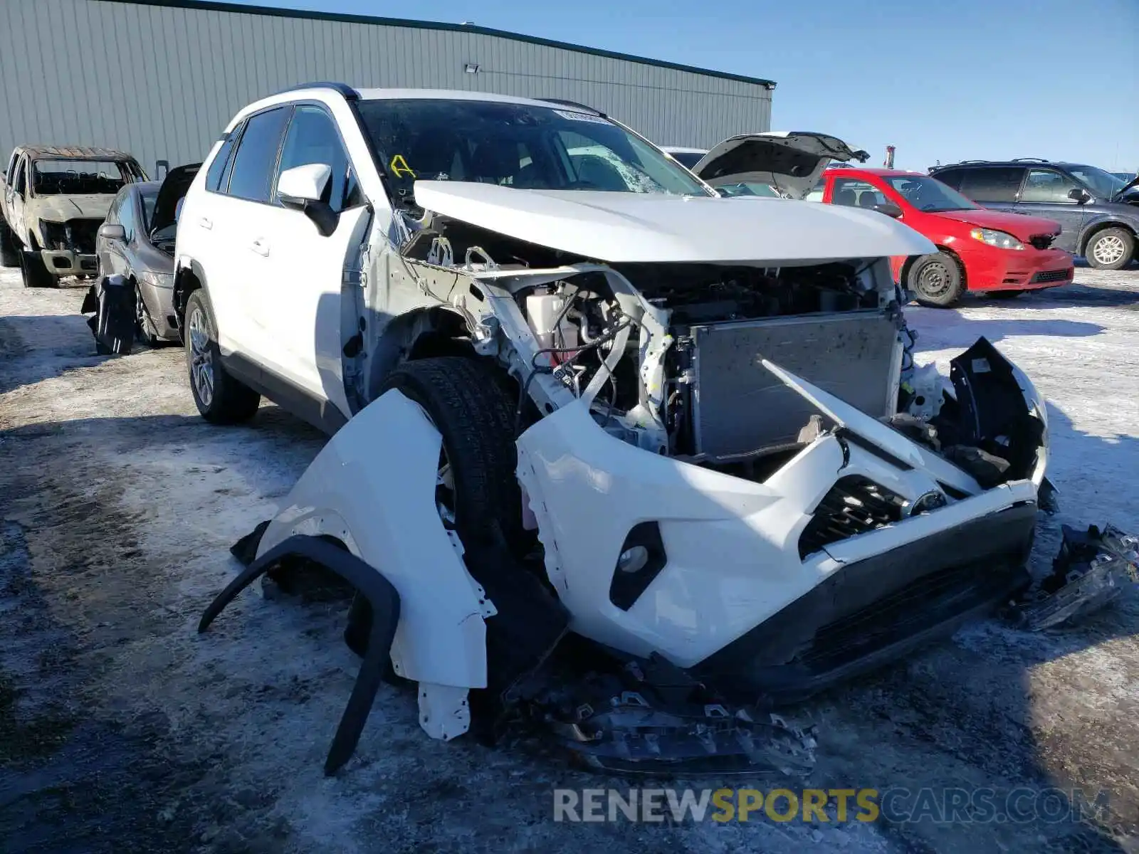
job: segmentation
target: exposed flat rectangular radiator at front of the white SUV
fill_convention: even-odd
[[[895,405],[898,328],[880,311],[691,327],[697,453],[786,447],[816,409],[762,364],[768,359],[867,414]]]

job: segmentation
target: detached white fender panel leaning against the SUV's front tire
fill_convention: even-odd
[[[342,540],[400,593],[396,673],[435,685],[485,688],[487,606],[435,508],[441,444],[418,404],[387,392],[317,454],[257,555],[294,534]]]

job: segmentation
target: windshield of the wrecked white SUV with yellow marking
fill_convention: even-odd
[[[662,151],[589,113],[428,98],[366,100],[358,106],[392,191],[407,205],[413,204],[416,180],[708,195]]]

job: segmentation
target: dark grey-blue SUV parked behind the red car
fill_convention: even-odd
[[[1054,246],[1100,270],[1118,270],[1136,257],[1139,195],[1111,172],[1035,157],[964,161],[929,170],[942,183],[980,205],[1060,223]]]

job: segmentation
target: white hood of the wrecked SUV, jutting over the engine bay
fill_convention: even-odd
[[[823,261],[925,255],[908,225],[854,207],[763,197],[516,190],[416,181],[416,204],[519,240],[611,263]]]

